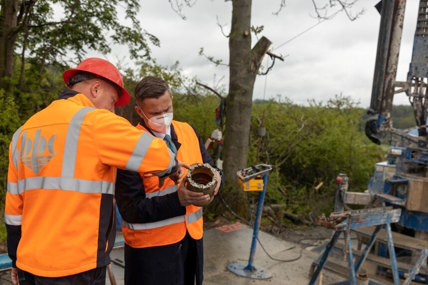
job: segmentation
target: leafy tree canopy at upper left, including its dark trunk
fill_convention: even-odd
[[[132,59],[150,58],[149,44],[159,40],[141,28],[139,8],[137,0],[2,1],[0,77],[13,76],[13,53],[39,73],[46,64],[78,64],[89,50],[108,54],[111,44],[127,45]]]

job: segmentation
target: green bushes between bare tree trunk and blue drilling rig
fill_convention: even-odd
[[[358,131],[360,109],[350,98],[336,96],[326,105],[312,101],[309,107],[287,100],[254,105],[249,164],[256,163],[257,129],[263,110],[267,131],[259,163],[274,167],[267,203],[286,203],[288,210],[297,214],[331,211],[338,173],[348,175],[353,191],[366,189],[382,152]]]

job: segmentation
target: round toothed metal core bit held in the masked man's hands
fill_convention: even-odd
[[[187,172],[186,188],[194,192],[204,192],[210,195],[210,201],[201,205],[205,206],[214,199],[214,188],[217,185],[216,170],[208,163],[193,165]]]

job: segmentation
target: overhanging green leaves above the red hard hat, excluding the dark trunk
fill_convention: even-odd
[[[141,29],[139,8],[137,0],[32,1],[20,7],[24,16],[18,21],[17,48],[25,46],[40,65],[66,64],[82,61],[87,50],[108,54],[110,38],[127,45],[132,59],[150,58],[149,43],[159,45],[159,40]],[[125,18],[118,17],[119,10]]]

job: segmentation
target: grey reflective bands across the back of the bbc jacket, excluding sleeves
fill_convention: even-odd
[[[77,145],[80,136],[82,122],[87,113],[95,110],[94,107],[83,107],[73,116],[67,129],[66,140],[64,144],[64,156],[61,170],[61,177],[32,177],[18,180],[18,183],[7,182],[7,191],[11,194],[22,194],[25,190],[46,189],[46,190],[69,190],[80,193],[106,193],[114,194],[114,183],[107,181],[92,181],[75,179],[74,169],[76,166]],[[20,130],[20,129],[19,129]],[[13,161],[19,160],[19,154],[16,152],[17,138],[19,130],[15,132],[12,138],[12,156]],[[25,140],[25,132],[21,140]]]

